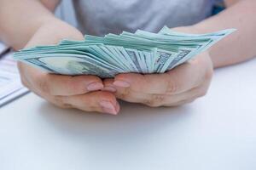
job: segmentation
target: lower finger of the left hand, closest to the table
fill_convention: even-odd
[[[64,107],[73,107],[82,111],[98,111],[112,115],[119,112],[119,103],[108,92],[96,91],[74,96],[55,96],[54,103]]]

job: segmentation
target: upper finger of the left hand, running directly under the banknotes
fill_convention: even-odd
[[[96,76],[63,76],[46,74],[30,65],[18,63],[21,82],[40,94],[77,95],[103,88],[102,80]]]

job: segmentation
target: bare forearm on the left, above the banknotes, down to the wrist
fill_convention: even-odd
[[[1,0],[0,39],[15,49],[23,48],[33,37],[43,38],[40,43],[58,42],[63,37],[80,37],[73,26],[55,18],[48,8],[38,0]],[[37,32],[44,30],[44,34]]]

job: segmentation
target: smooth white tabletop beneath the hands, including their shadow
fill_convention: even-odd
[[[108,116],[15,100],[0,109],[0,169],[256,169],[256,59],[216,71],[193,104],[121,107]]]

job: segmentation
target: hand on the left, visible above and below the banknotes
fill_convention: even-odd
[[[62,37],[83,38],[79,31],[65,26],[62,26],[60,30],[64,32],[64,35],[56,31],[49,32],[55,30],[51,26],[39,29],[28,42],[26,48],[42,44],[54,44]],[[65,32],[69,32],[69,34]],[[61,36],[57,37],[56,34]],[[119,103],[115,96],[109,92],[101,91],[103,84],[99,77],[70,77],[49,74],[20,62],[18,67],[21,82],[26,88],[57,106],[77,108],[82,111],[99,111],[113,115],[119,112]]]

